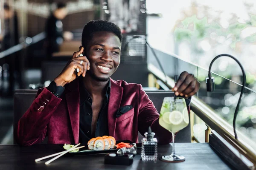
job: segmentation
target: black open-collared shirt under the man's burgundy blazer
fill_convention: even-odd
[[[92,99],[87,92],[82,82],[82,77],[79,77],[79,93],[80,93],[80,110],[79,110],[79,143],[85,143],[97,136],[108,136],[108,101],[110,94],[110,81],[106,89],[106,94],[102,103],[102,108],[99,111],[99,117],[96,124],[95,135],[92,134],[91,125],[93,118]]]

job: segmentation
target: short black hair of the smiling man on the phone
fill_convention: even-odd
[[[83,29],[82,33],[82,46],[86,48],[87,43],[92,40],[93,33],[98,31],[108,31],[112,32],[113,34],[116,34],[116,36],[119,38],[120,42],[122,43],[122,33],[120,28],[109,21],[106,20],[92,20],[89,21]]]

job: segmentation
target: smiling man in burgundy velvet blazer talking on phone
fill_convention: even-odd
[[[171,133],[159,125],[159,113],[142,86],[110,78],[120,63],[121,43],[122,34],[115,24],[102,20],[87,23],[80,50],[49,87],[38,90],[19,120],[17,142],[36,144],[47,135],[52,144],[87,143],[104,135],[138,142],[138,132],[144,134],[149,126],[159,143],[171,142]],[[174,90],[189,97],[198,88],[199,82],[183,72]]]

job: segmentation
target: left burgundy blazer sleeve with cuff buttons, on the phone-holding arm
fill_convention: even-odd
[[[39,89],[32,105],[15,127],[14,137],[16,142],[25,146],[43,142],[47,134],[47,124],[61,100],[47,88]],[[43,105],[43,102],[46,105],[40,112],[38,109]]]

